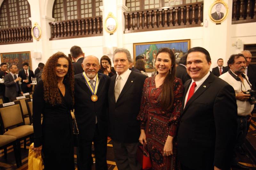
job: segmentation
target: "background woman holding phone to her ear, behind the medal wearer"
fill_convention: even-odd
[[[112,77],[116,74],[114,67],[111,67],[111,61],[107,55],[103,55],[100,58],[100,70],[98,72],[106,74],[109,77]]]

